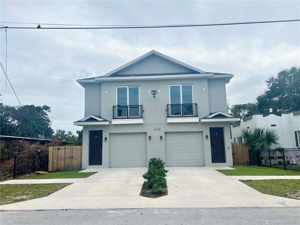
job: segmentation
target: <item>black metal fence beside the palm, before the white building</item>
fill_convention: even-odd
[[[300,149],[262,149],[259,152],[250,152],[250,164],[300,171]]]

